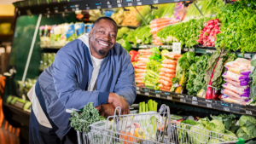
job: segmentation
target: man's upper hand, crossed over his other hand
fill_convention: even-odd
[[[109,93],[107,103],[112,104],[114,108],[121,107],[122,115],[130,113],[130,108],[129,108],[127,101],[125,100],[124,97],[122,97],[120,95],[117,95],[115,93]]]

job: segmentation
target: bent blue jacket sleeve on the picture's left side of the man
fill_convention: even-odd
[[[85,91],[79,88],[77,66],[83,67],[75,56],[63,51],[55,56],[52,75],[55,90],[61,103],[66,108],[77,109],[82,109],[88,102],[94,102],[94,107],[107,103],[108,92]],[[107,101],[102,102],[102,99],[106,99],[106,97]]]

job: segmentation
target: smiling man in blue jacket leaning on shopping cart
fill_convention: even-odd
[[[130,55],[116,41],[114,20],[96,20],[90,35],[67,43],[28,93],[32,101],[30,144],[78,143],[67,108],[82,109],[88,102],[103,116],[121,107],[130,112],[135,101],[135,75]],[[76,140],[76,141],[74,141]]]

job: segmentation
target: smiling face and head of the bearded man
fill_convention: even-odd
[[[90,31],[91,55],[103,59],[113,49],[118,28],[111,20],[102,19]]]

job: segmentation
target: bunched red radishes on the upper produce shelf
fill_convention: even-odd
[[[200,38],[198,39],[198,43],[206,47],[214,47],[216,36],[219,32],[219,20],[209,20],[204,24],[204,28],[200,34]]]

